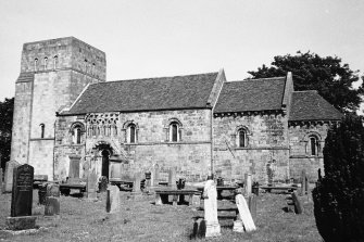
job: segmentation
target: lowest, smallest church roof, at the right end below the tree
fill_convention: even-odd
[[[289,120],[338,120],[341,117],[342,114],[315,90],[292,93]]]

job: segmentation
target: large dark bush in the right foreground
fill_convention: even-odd
[[[325,177],[313,190],[316,226],[325,241],[364,241],[364,128],[347,115],[324,148]]]

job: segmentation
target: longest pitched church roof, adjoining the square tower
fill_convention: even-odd
[[[63,114],[206,107],[217,74],[92,84]]]

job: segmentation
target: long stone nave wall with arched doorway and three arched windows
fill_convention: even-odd
[[[98,115],[104,118],[106,114]],[[116,117],[116,114],[113,115]],[[104,143],[111,147],[113,155],[120,155],[124,161],[121,173],[125,177],[130,178],[137,171],[151,171],[158,166],[162,174],[166,174],[171,167],[176,167],[177,178],[184,177],[189,181],[205,180],[211,163],[210,115],[210,110],[117,113],[117,133],[114,130],[110,135],[101,131],[99,136],[88,133],[88,115],[86,119],[60,116],[57,120],[54,150],[57,176],[64,179],[67,175],[70,155],[81,157],[80,170],[95,167],[100,173],[101,167],[98,166],[101,165],[101,151],[95,149]],[[86,126],[85,145],[72,144],[70,128],[76,120]],[[178,142],[168,141],[167,130],[172,120],[181,124],[181,140]],[[137,127],[136,143],[128,143],[126,139],[127,125],[131,123]],[[161,177],[163,179],[163,176]]]

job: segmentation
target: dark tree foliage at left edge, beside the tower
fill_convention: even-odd
[[[13,126],[14,98],[0,102],[0,154],[1,167],[10,160],[11,130]]]

